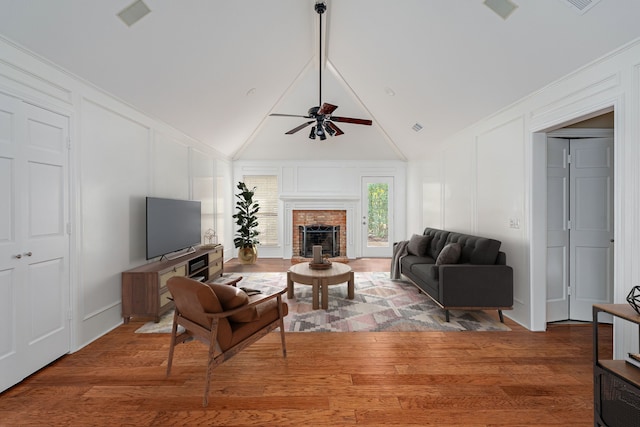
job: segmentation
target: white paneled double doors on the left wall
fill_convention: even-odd
[[[0,390],[70,349],[68,118],[0,96]]]

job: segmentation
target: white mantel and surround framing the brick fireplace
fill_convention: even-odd
[[[293,211],[295,210],[344,210],[347,213],[347,258],[356,257],[356,215],[360,206],[359,196],[301,196],[281,195],[284,203],[284,258],[293,256]]]

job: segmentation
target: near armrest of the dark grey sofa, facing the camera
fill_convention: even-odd
[[[513,306],[513,269],[508,265],[441,265],[439,282],[444,307]]]

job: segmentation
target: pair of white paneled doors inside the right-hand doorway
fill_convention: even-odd
[[[547,138],[547,321],[613,302],[613,137]]]

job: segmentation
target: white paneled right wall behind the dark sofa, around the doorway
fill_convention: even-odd
[[[505,314],[529,328],[544,330],[544,132],[614,109],[615,302],[624,302],[640,281],[636,267],[640,256],[639,99],[640,41],[636,41],[440,141],[439,149],[424,153],[429,160],[410,161],[410,171],[423,170],[428,164],[433,173],[411,174],[421,175],[422,181],[412,183],[408,199],[421,200],[423,209],[410,209],[408,224],[423,221],[423,226],[501,240],[515,272],[514,310]]]

